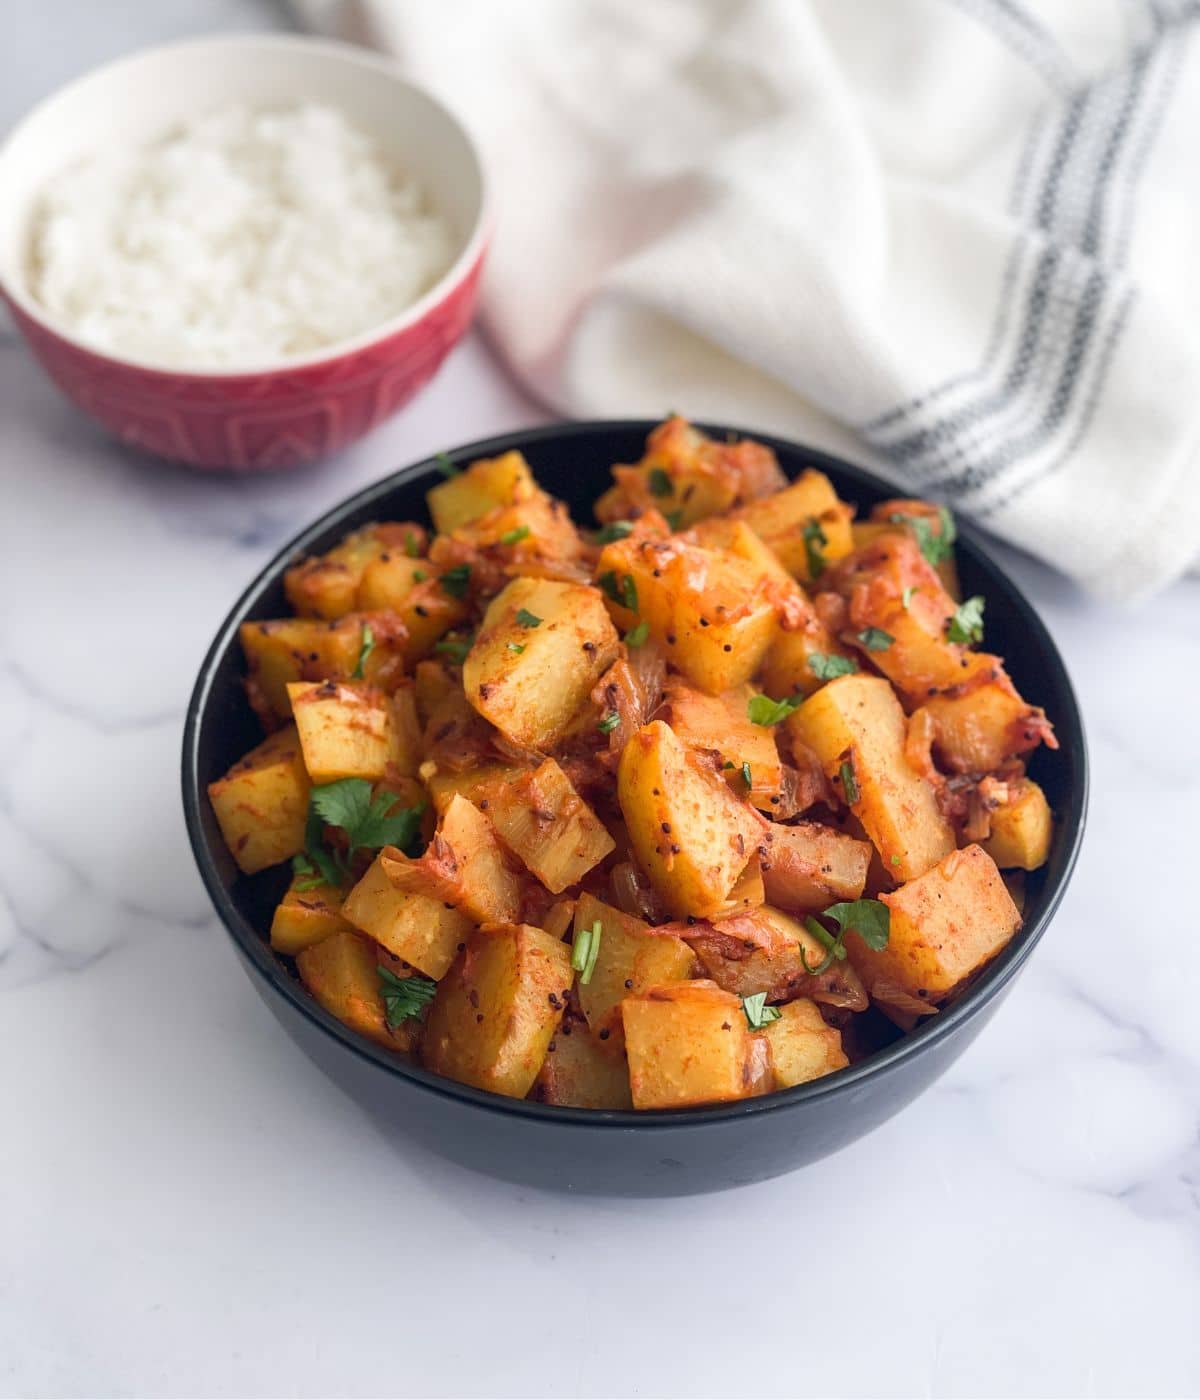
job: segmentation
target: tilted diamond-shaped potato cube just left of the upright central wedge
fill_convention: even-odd
[[[615,844],[553,759],[497,787],[487,815],[500,840],[552,895],[577,885]]]

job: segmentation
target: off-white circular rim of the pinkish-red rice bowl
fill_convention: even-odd
[[[336,59],[342,62],[354,63],[360,67],[372,69],[377,73],[382,73],[389,77],[393,83],[400,87],[406,87],[413,92],[417,92],[427,102],[438,109],[438,112],[445,118],[445,120],[459,133],[466,144],[470,154],[472,162],[475,165],[476,178],[479,181],[479,211],[472,224],[470,232],[466,242],[462,246],[462,252],[455,258],[449,267],[438,277],[438,280],[419,297],[412,305],[406,307],[402,312],[391,316],[388,321],[381,321],[377,326],[371,326],[367,330],[360,332],[347,340],[337,340],[333,344],[323,346],[321,350],[314,350],[309,354],[294,356],[286,360],[272,360],[266,364],[246,363],[245,365],[230,365],[218,370],[207,370],[196,365],[169,365],[161,361],[155,363],[153,360],[139,360],[133,356],[115,354],[108,349],[101,349],[99,346],[90,344],[87,340],[81,340],[74,336],[66,326],[63,326],[53,316],[48,315],[45,308],[35,301],[21,284],[18,277],[6,277],[3,269],[0,269],[0,294],[3,294],[7,301],[11,302],[13,308],[18,311],[28,321],[34,322],[45,333],[55,336],[56,339],[71,346],[80,354],[90,356],[94,360],[105,361],[111,365],[116,365],[126,370],[134,370],[139,374],[161,375],[164,379],[206,379],[206,381],[237,381],[246,378],[262,378],[272,374],[294,374],[300,370],[312,370],[323,365],[335,364],[336,361],[344,358],[346,356],[353,356],[361,350],[368,350],[372,346],[381,344],[385,340],[391,340],[412,326],[421,322],[428,312],[435,309],[454,290],[461,286],[473,272],[476,263],[483,258],[487,244],[491,238],[494,216],[491,211],[490,189],[487,182],[486,168],[479,153],[479,146],[475,137],[470,134],[463,122],[455,116],[455,113],[435,97],[428,88],[423,87],[420,83],[413,83],[410,78],[405,77],[399,69],[399,64],[385,55],[375,53],[370,49],[364,49],[357,43],[343,43],[337,39],[321,39],[305,34],[220,34],[220,35],[200,35],[190,39],[178,39],[172,43],[157,43],[146,49],[137,49],[133,53],[122,55],[119,59],[112,59],[108,63],[101,63],[94,69],[88,69],[85,73],[80,73],[77,77],[64,83],[62,87],[55,88],[53,92],[46,94],[41,101],[38,101],[29,111],[17,122],[17,125],[8,132],[3,143],[0,143],[0,176],[3,176],[4,157],[8,147],[18,139],[18,136],[25,130],[25,127],[46,108],[52,106],[55,102],[62,101],[69,97],[77,87],[92,81],[94,78],[102,76],[113,76],[126,66],[133,66],[137,63],[144,63],[147,60],[154,60],[165,57],[171,53],[178,53],[181,50],[203,50],[213,49],[221,50],[231,46],[260,49],[304,49],[308,53],[316,53],[329,59]],[[18,318],[20,321],[20,318]]]

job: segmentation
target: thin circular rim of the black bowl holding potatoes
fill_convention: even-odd
[[[490,1113],[540,1120],[542,1123],[571,1123],[574,1126],[595,1128],[599,1133],[629,1131],[630,1128],[654,1130],[657,1127],[671,1127],[678,1130],[685,1123],[720,1123],[738,1117],[756,1117],[762,1113],[784,1113],[791,1109],[798,1109],[805,1103],[812,1103],[818,1099],[837,1096],[850,1098],[864,1079],[875,1075],[885,1075],[902,1061],[910,1058],[912,1056],[920,1056],[940,1044],[947,1039],[947,1036],[952,1036],[959,1026],[972,1019],[986,1002],[997,997],[1012,981],[1049,927],[1050,920],[1061,903],[1078,858],[1088,805],[1088,756],[1082,717],[1080,714],[1078,701],[1066,666],[1059,655],[1059,648],[1054,645],[1045,624],[1033,610],[1033,606],[1012,582],[1008,574],[1000,567],[1000,564],[997,564],[996,560],[987,553],[979,533],[969,524],[959,519],[959,546],[965,546],[968,552],[977,556],[977,560],[984,566],[984,568],[991,570],[1005,582],[1011,592],[1010,602],[1018,613],[1022,629],[1035,644],[1036,652],[1045,662],[1047,671],[1054,673],[1054,683],[1060,697],[1060,713],[1054,717],[1056,727],[1063,742],[1071,745],[1077,753],[1078,781],[1067,794],[1067,801],[1061,805],[1061,811],[1059,812],[1059,820],[1063,827],[1063,839],[1067,841],[1067,848],[1059,865],[1057,879],[1053,882],[1047,879],[1046,886],[1040,892],[1042,903],[1036,918],[1021,930],[1021,935],[1008,944],[1008,946],[983,972],[977,981],[975,981],[951,1007],[940,1012],[937,1016],[931,1016],[916,1030],[900,1036],[900,1039],[895,1040],[892,1044],[884,1047],[875,1054],[871,1054],[857,1064],[821,1079],[814,1079],[791,1089],[780,1089],[774,1093],[752,1099],[737,1099],[732,1103],[714,1105],[711,1107],[648,1110],[574,1109],[536,1103],[529,1099],[507,1099],[484,1089],[476,1089],[470,1085],[459,1084],[455,1079],[442,1078],[441,1075],[412,1064],[396,1054],[388,1054],[386,1050],[375,1047],[371,1042],[358,1036],[349,1026],[337,1021],[336,1016],[319,1007],[308,995],[301,983],[284,970],[283,965],[279,962],[277,956],[272,952],[269,944],[263,938],[262,931],[255,928],[253,924],[242,916],[241,910],[238,910],[221,882],[202,822],[202,802],[207,801],[207,797],[199,771],[200,728],[209,704],[213,700],[217,662],[231,643],[237,640],[238,626],[244,620],[244,615],[266,585],[273,582],[298,554],[308,552],[311,540],[315,540],[332,528],[336,528],[340,519],[357,514],[360,510],[370,507],[377,500],[385,498],[396,487],[413,484],[421,476],[437,475],[440,459],[448,456],[455,463],[470,462],[476,458],[498,456],[500,454],[512,449],[519,451],[522,448],[535,447],[552,440],[570,440],[571,437],[582,434],[641,433],[644,435],[648,434],[655,426],[657,420],[653,419],[591,419],[575,423],[559,423],[540,428],[525,428],[515,433],[505,433],[500,437],[483,438],[477,442],[465,444],[454,451],[438,454],[438,458],[426,458],[424,461],[413,462],[409,466],[400,468],[400,470],[375,482],[372,486],[356,493],[340,505],[326,511],[319,519],[314,521],[307,529],[301,531],[300,535],[279,550],[270,563],[256,575],[253,582],[251,582],[251,585],[242,592],[237,603],[234,603],[224,623],[221,623],[221,627],[217,631],[217,636],[200,666],[196,686],[188,703],[188,715],[183,727],[183,812],[188,826],[188,837],[192,843],[192,853],[196,858],[196,864],[200,869],[200,876],[209,892],[209,897],[213,900],[225,930],[242,952],[248,965],[253,967],[255,973],[269,987],[272,987],[277,995],[290,1001],[291,1005],[301,1012],[301,1015],[308,1018],[308,1021],[321,1026],[336,1040],[340,1040],[344,1049],[351,1054],[371,1061],[388,1074],[419,1084],[430,1093],[438,1095],[444,1099],[456,1099],[462,1103],[470,1103],[475,1107]],[[786,438],[770,437],[765,433],[755,433],[727,424],[703,423],[697,426],[713,435],[725,435],[727,433],[732,433],[737,437],[753,437],[756,441],[774,448],[777,452],[786,455],[800,455],[807,463],[826,472],[839,487],[839,494],[844,494],[843,486],[847,483],[851,487],[856,484],[865,487],[868,491],[882,491],[885,496],[895,494],[896,489],[892,483],[885,482],[882,477],[875,476],[864,468],[854,466],[842,458],[832,456],[828,452],[819,452],[814,448],[791,442]]]

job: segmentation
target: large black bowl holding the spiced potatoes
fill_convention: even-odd
[[[451,452],[456,462],[525,452],[538,480],[591,518],[613,462],[641,455],[650,421],[577,423],[512,433]],[[710,424],[709,431],[728,430]],[[738,430],[741,431],[741,430]],[[843,498],[865,510],[895,496],[885,482],[793,442],[753,434],[784,470],[826,472]],[[1087,809],[1082,721],[1063,661],[1038,615],[959,526],[958,564],[966,594],[987,598],[987,644],[1008,659],[1018,689],[1046,708],[1061,748],[1032,764],[1056,815],[1050,860],[1031,876],[1025,925],[949,1009],[893,1039],[849,1070],[766,1098],[710,1109],[592,1112],[518,1102],[455,1084],[406,1064],[343,1026],[312,1001],[266,932],[286,885],[283,869],[246,878],[237,871],[204,795],[206,785],[260,738],[242,692],[238,626],[287,613],[283,571],[298,554],[329,549],[375,519],[424,518],[424,491],[438,479],[419,462],[360,491],[293,540],[242,594],[221,626],[188,707],[183,808],[200,874],[259,995],[295,1043],[364,1107],[433,1151],[493,1176],[539,1187],[604,1196],[683,1196],[777,1176],[853,1142],[902,1109],[979,1035],[1050,923],[1067,888]]]

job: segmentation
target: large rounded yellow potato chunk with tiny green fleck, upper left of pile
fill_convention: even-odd
[[[612,665],[618,645],[595,588],[514,578],[484,613],[462,683],[468,700],[501,734],[546,750]]]

